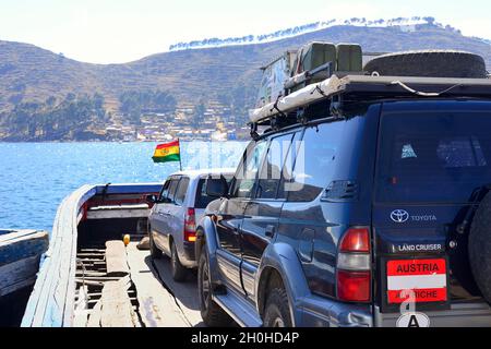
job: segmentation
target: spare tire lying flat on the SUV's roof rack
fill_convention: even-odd
[[[383,55],[363,71],[386,76],[472,77],[488,76],[482,57],[464,51],[423,50]]]

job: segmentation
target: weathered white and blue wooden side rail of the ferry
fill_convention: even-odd
[[[155,194],[161,183],[83,185],[67,196],[58,207],[49,250],[31,293],[22,327],[74,326],[77,287],[79,226],[86,218],[84,204],[96,195]],[[92,213],[91,213],[92,214]]]

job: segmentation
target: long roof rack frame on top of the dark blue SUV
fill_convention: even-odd
[[[279,97],[275,103],[251,110],[250,121],[251,124],[263,124],[272,119],[287,118],[288,113],[319,100],[351,93],[373,94],[379,96],[379,99],[394,95],[491,98],[491,79],[335,74],[320,83]]]

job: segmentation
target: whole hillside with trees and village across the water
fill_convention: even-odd
[[[432,17],[327,21],[205,39],[124,64],[83,63],[0,40],[0,142],[248,139],[260,68],[314,40],[357,43],[364,52],[466,50],[491,67],[489,40]]]

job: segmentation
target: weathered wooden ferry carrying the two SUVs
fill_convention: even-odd
[[[84,185],[64,198],[22,326],[200,325],[195,280],[173,284],[168,261],[123,242],[146,236],[147,196],[160,188]]]

